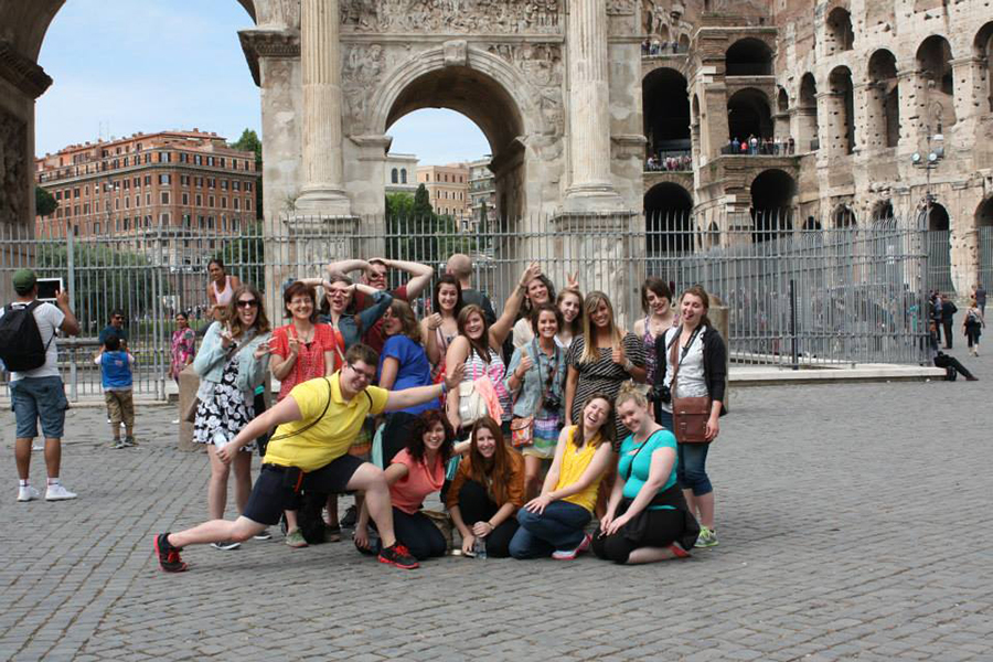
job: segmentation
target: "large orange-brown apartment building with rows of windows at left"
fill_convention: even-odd
[[[36,236],[131,236],[167,264],[199,265],[259,215],[255,153],[199,129],[72,145],[35,160],[35,182],[58,202]]]

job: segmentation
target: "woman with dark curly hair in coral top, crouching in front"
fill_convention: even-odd
[[[452,453],[455,435],[440,409],[428,409],[410,426],[407,447],[396,453],[384,471],[393,502],[393,530],[404,552],[418,560],[444,556],[447,543],[441,532],[420,512],[424,500],[445,484],[445,465]],[[355,524],[355,546],[370,548],[369,510],[365,503]]]

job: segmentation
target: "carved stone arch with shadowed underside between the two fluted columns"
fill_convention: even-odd
[[[417,53],[392,70],[367,107],[367,127],[353,130],[385,135],[399,118],[428,107],[449,108],[476,122],[490,142],[503,217],[528,209],[526,167],[542,149],[535,145],[549,141],[543,137],[560,134],[564,111],[560,98],[548,98],[506,60],[465,42]]]

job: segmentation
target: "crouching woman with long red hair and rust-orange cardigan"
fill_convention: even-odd
[[[446,505],[462,536],[463,554],[474,555],[482,545],[487,556],[510,556],[515,515],[524,505],[524,461],[489,416],[472,426],[469,452],[459,463]]]

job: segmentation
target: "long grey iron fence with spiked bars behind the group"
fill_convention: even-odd
[[[194,328],[206,325],[206,265],[216,257],[229,274],[264,289],[277,324],[284,323],[282,284],[321,275],[334,260],[382,256],[428,264],[440,274],[448,256],[466,253],[473,258],[474,287],[494,303],[537,260],[558,285],[577,274],[584,292],[608,292],[628,328],[643,316],[645,276],[661,276],[676,291],[702,284],[728,307],[735,362],[925,362],[927,233],[899,223],[792,229],[790,221],[782,215],[752,223],[746,216],[732,218],[725,229],[702,231],[690,214],[674,212],[483,222],[286,216],[214,227],[146,223],[127,232],[107,223],[103,233],[86,236],[30,236],[2,227],[0,279],[9,284],[25,265],[42,277],[64,279],[83,329],[79,339],[60,341],[60,366],[74,399],[100,391],[90,356],[115,309],[128,320],[136,392],[163,398],[174,313],[186,311]],[[396,286],[403,274],[391,269],[389,278]],[[429,295],[430,288],[414,301],[421,314],[430,308]],[[7,394],[6,378],[0,376],[0,395]]]

